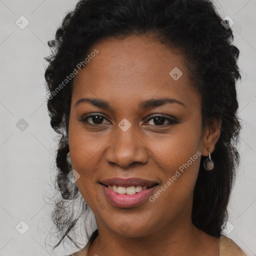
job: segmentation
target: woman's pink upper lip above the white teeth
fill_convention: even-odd
[[[107,178],[100,181],[100,183],[104,185],[117,185],[117,186],[152,186],[158,184],[157,182],[143,179],[143,178]]]

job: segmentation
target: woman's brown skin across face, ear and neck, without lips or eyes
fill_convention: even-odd
[[[99,231],[88,255],[219,255],[219,239],[191,223],[200,156],[154,202],[114,207],[98,183],[139,177],[159,183],[156,191],[197,151],[207,156],[208,148],[214,150],[220,122],[212,119],[202,129],[200,95],[191,86],[182,54],[148,35],[107,38],[89,52],[95,48],[98,53],[73,80],[68,132],[72,168],[80,175],[76,183]],[[183,73],[178,80],[169,75],[174,67]],[[88,102],[75,106],[83,97],[104,99],[112,109]],[[163,97],[184,106],[138,106],[142,100]],[[92,113],[105,119],[96,124],[92,118],[80,121]],[[153,114],[174,117],[178,123],[162,119],[157,125]],[[126,131],[118,127],[123,118],[131,124]]]

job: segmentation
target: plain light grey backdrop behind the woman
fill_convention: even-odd
[[[52,223],[50,206],[44,198],[52,194],[49,183],[55,170],[56,134],[47,115],[43,60],[49,54],[47,40],[54,38],[64,14],[75,3],[0,0],[1,256],[67,255],[76,250],[59,246],[52,252],[45,242]],[[233,43],[240,49],[238,65],[242,75],[241,82],[237,82],[239,116],[243,121],[241,163],[225,235],[247,255],[256,255],[256,1],[215,3],[222,18],[228,15],[234,20]],[[87,242],[86,238],[81,240]]]

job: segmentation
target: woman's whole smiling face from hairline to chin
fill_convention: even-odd
[[[68,143],[98,228],[139,237],[191,221],[207,149],[182,55],[142,35],[94,49],[73,80]]]

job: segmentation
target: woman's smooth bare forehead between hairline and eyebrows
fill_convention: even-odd
[[[119,99],[122,103],[125,99],[155,96],[176,97],[180,101],[195,97],[198,101],[185,59],[177,50],[143,35],[104,39],[94,44],[88,54],[94,49],[98,53],[74,77],[72,97]]]

